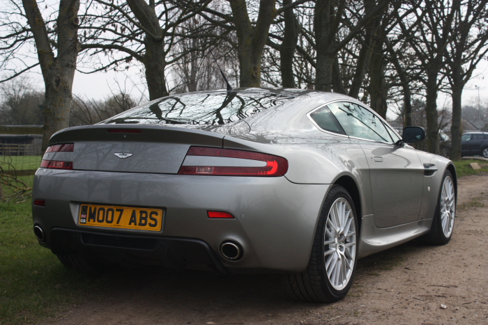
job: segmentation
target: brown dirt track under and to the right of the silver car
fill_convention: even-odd
[[[488,324],[488,175],[459,180],[445,246],[416,241],[358,262],[342,301],[291,301],[273,275],[135,270],[51,319],[77,324]],[[445,307],[445,308],[444,308]]]

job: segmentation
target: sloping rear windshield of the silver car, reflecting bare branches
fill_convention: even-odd
[[[223,125],[293,98],[272,93],[189,93],[148,102],[105,123]]]

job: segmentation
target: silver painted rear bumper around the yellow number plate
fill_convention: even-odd
[[[216,257],[231,273],[300,272],[307,267],[317,220],[329,187],[327,184],[294,184],[285,177],[40,168],[34,180],[33,200],[44,199],[45,207],[33,206],[33,223],[45,231],[46,240],[40,244],[54,253],[58,248],[53,244],[53,234],[58,228],[107,236],[154,238],[164,246],[169,239],[197,241],[208,247],[212,252],[208,254]],[[161,208],[165,212],[163,227],[160,232],[148,232],[79,225],[81,203]],[[208,219],[208,210],[229,212],[235,219]],[[220,244],[226,240],[241,244],[244,251],[241,260],[229,261],[220,255]],[[93,256],[108,249],[94,251],[93,245],[88,246],[74,247],[92,252]],[[127,249],[119,247],[112,251],[120,253]],[[128,255],[144,257],[151,254],[132,250]],[[159,263],[164,265],[166,255],[158,251],[149,259],[142,258],[141,263],[152,264],[153,257],[160,257],[163,262]]]

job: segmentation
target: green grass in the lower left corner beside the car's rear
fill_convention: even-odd
[[[99,281],[66,269],[38,244],[30,200],[0,203],[1,325],[31,324],[53,316],[100,287]]]

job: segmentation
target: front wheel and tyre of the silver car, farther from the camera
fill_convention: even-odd
[[[430,232],[420,237],[420,240],[429,245],[448,244],[454,230],[456,217],[456,193],[454,181],[450,171],[444,173],[437,199],[437,208],[432,220]]]

